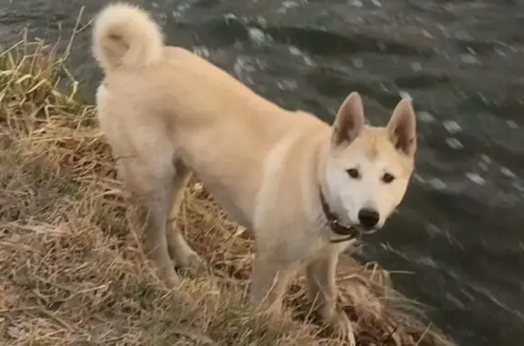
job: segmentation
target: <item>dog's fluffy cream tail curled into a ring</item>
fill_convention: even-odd
[[[96,15],[93,52],[105,71],[142,68],[160,61],[164,35],[145,10],[135,5],[107,5]]]

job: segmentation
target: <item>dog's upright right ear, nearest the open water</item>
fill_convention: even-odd
[[[411,100],[405,98],[395,107],[388,123],[391,142],[401,153],[413,156],[417,151],[417,116]]]

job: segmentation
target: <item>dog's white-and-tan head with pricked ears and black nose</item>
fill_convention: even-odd
[[[358,229],[381,228],[402,201],[417,150],[416,116],[401,100],[386,127],[364,124],[358,93],[349,94],[332,127],[326,165],[330,207]]]

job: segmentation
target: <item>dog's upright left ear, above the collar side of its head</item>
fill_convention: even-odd
[[[364,107],[362,98],[357,92],[349,94],[338,109],[337,118],[333,124],[333,146],[348,144],[358,136],[364,127]]]

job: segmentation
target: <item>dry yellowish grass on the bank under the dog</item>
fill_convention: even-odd
[[[340,345],[309,318],[300,278],[279,321],[251,315],[253,243],[187,189],[179,224],[213,273],[166,291],[145,262],[93,106],[55,51],[26,41],[0,54],[0,344]],[[57,84],[68,84],[65,94]],[[358,345],[450,346],[386,272],[349,257],[340,303]]]

